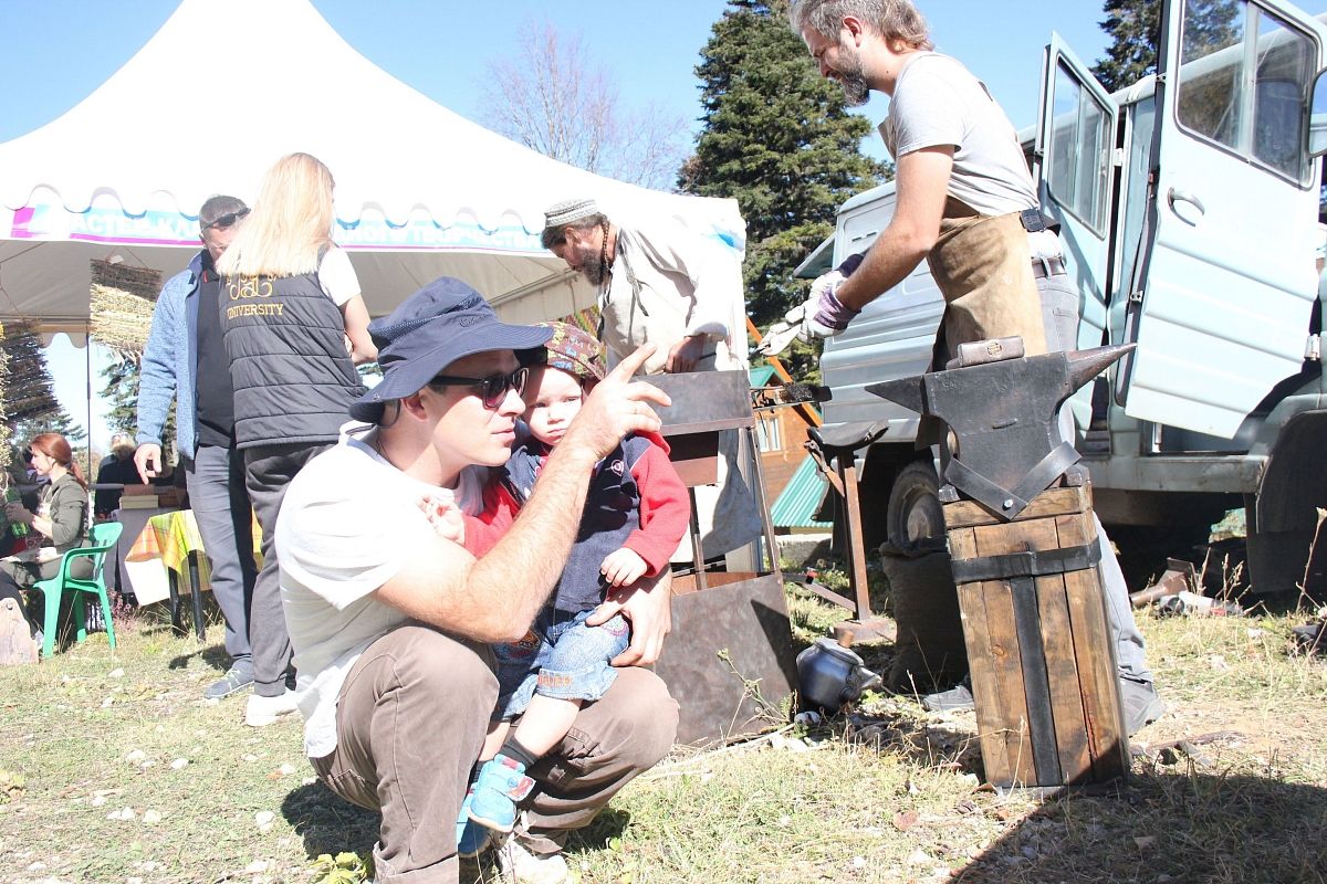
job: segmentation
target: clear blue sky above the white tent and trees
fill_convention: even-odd
[[[370,61],[472,119],[482,117],[479,86],[486,68],[515,52],[522,24],[543,20],[584,37],[591,56],[616,80],[624,105],[654,102],[695,119],[699,81],[694,69],[713,24],[727,8],[723,0],[313,0],[313,5]],[[1107,42],[1097,25],[1100,0],[921,0],[918,5],[929,17],[937,49],[957,56],[985,80],[1019,127],[1035,122],[1040,52],[1051,30],[1088,64]],[[0,142],[82,101],[151,38],[175,7],[175,0],[0,0],[9,72],[0,90]],[[1327,9],[1327,0],[1306,7]],[[226,69],[232,64],[243,64],[243,48],[210,46],[200,34],[198,69],[179,76],[196,80],[199,101],[206,102],[224,93]],[[329,69],[329,81],[334,77]],[[175,114],[183,123],[195,110],[126,107],[125,113]],[[863,109],[872,122],[884,111],[881,99]],[[182,126],[182,131],[190,129]],[[182,139],[180,150],[187,148]],[[868,150],[882,155],[874,139]],[[86,424],[85,355],[61,338],[49,358],[57,395]],[[104,447],[109,432],[100,424],[94,416],[93,443]]]

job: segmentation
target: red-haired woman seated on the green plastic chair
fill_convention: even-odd
[[[36,555],[0,561],[0,598],[20,599],[20,590],[60,574],[61,557],[82,546],[88,537],[88,482],[74,463],[69,441],[60,433],[41,433],[32,440],[29,451],[37,474],[50,480],[50,484],[41,486],[36,513],[17,501],[5,504],[4,509],[11,522],[28,525],[29,538],[36,537],[41,543]],[[29,549],[29,554],[32,551]],[[70,567],[74,577],[92,577],[92,561],[88,558],[74,559]],[[29,620],[40,624],[41,594],[33,595],[37,598],[29,602],[37,610],[29,610]]]

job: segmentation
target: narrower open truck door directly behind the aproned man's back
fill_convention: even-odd
[[[1042,62],[1034,171],[1042,207],[1060,225],[1066,269],[1082,293],[1080,347],[1100,346],[1105,329],[1116,115],[1111,95],[1052,33]]]

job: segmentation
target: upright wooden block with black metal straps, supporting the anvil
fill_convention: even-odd
[[[1042,492],[1013,522],[945,504],[958,562],[1096,541],[1092,489]],[[955,570],[955,574],[961,571]],[[1128,770],[1100,569],[958,583],[986,778],[997,787],[1101,783]]]

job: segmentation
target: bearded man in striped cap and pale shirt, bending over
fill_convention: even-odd
[[[598,286],[598,337],[609,364],[644,343],[658,347],[646,374],[744,371],[742,268],[717,244],[664,219],[616,224],[593,199],[577,197],[544,212],[544,248]],[[738,437],[721,433],[718,488],[697,488],[697,518],[706,558],[760,535],[755,500],[738,472]],[[689,543],[674,561],[690,559]]]

